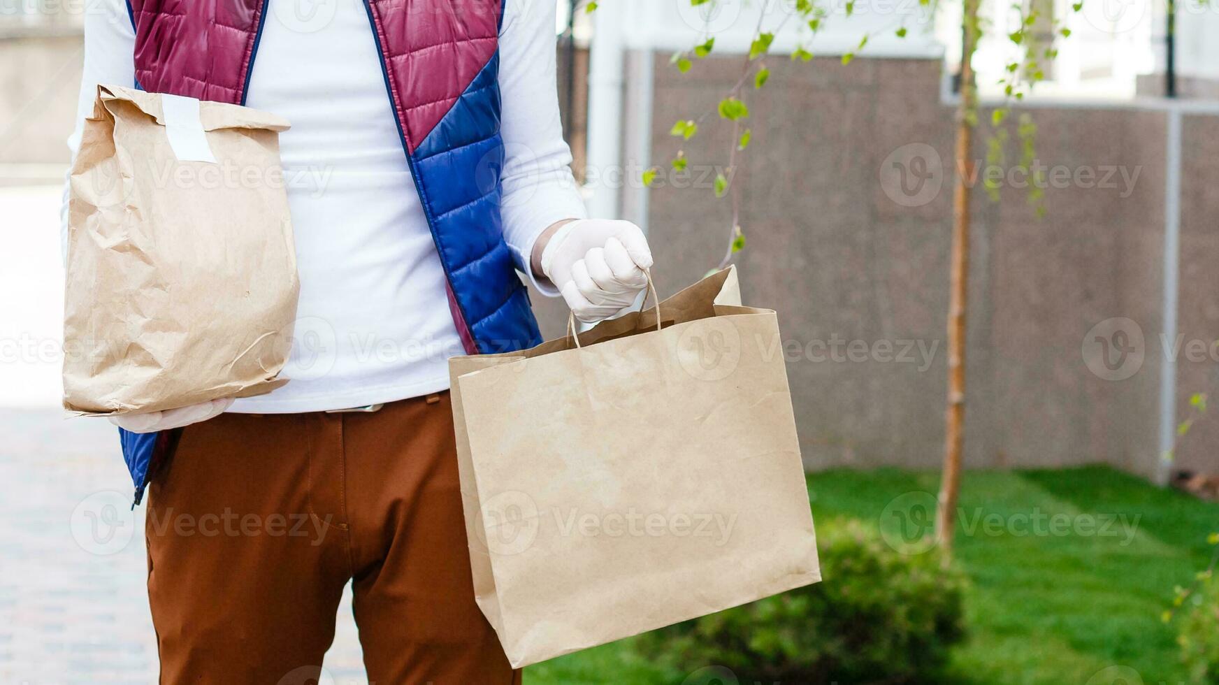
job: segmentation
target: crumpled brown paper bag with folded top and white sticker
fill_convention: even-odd
[[[269,392],[288,360],[296,255],[288,121],[98,89],[72,166],[63,406],[117,414]]]

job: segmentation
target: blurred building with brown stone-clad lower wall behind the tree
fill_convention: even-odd
[[[662,291],[718,263],[731,216],[709,186],[728,163],[730,127],[712,116],[689,143],[669,128],[713,112],[759,22],[781,26],[767,63],[770,85],[746,90],[755,138],[739,172],[748,246],[736,260],[746,297],[777,308],[789,341],[805,350],[789,368],[812,468],[934,467],[942,452],[942,346],[928,364],[875,355],[816,361],[807,352],[836,339],[926,350],[944,339],[959,6],[941,2],[934,13],[917,0],[861,1],[850,17],[846,4],[828,9],[809,37],[784,21],[785,2],[602,2],[580,165],[597,176],[585,190],[594,213],[650,229]],[[1215,428],[1199,424],[1201,435],[1176,445],[1176,427],[1189,400],[1214,386],[1219,362],[1214,352],[1193,361],[1184,353],[1190,341],[1214,350],[1219,338],[1209,297],[1219,282],[1207,266],[1219,257],[1208,218],[1219,208],[1219,104],[1208,100],[1219,84],[1210,56],[1219,12],[1178,5],[1169,34],[1165,7],[1151,1],[1039,9],[1070,35],[1047,29],[1041,38],[1057,56],[1042,62],[1046,80],[1017,111],[1031,116],[1036,158],[1058,180],[1045,189],[1043,218],[1014,179],[1001,179],[997,200],[975,184],[967,461],[1103,461],[1159,479],[1173,468],[1213,469]],[[987,38],[974,57],[987,108],[974,152],[980,165],[995,134],[986,122],[1002,101],[1000,78],[1019,60],[1006,38],[1019,26],[1017,10],[984,2],[984,15]],[[679,73],[670,55],[707,35],[716,56]],[[797,46],[813,61],[787,60]],[[842,65],[847,52],[858,55]],[[1008,127],[1009,172],[1019,149],[1015,124]],[[895,158],[922,146],[930,154],[917,156],[939,185],[908,196],[895,190]],[[664,171],[661,186],[645,189],[640,172],[668,169],[679,150],[692,173]],[[542,306],[553,310],[547,323],[557,334],[561,311],[551,305]],[[1109,335],[1139,340],[1129,375],[1085,363],[1101,344],[1090,329],[1114,319],[1123,319],[1120,330]],[[1175,462],[1163,461],[1167,450]]]

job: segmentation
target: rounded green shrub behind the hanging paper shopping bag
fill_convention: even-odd
[[[818,525],[824,581],[640,636],[686,673],[740,683],[928,683],[964,637],[964,578],[936,551],[901,555],[858,522]]]

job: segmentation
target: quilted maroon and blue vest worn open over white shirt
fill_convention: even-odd
[[[468,353],[541,342],[500,219],[501,0],[362,0]],[[244,104],[269,0],[128,0],[137,85]],[[122,431],[139,503],[171,431]]]

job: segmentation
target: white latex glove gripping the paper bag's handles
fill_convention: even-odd
[[[575,318],[592,323],[635,302],[647,288],[652,251],[629,221],[579,219],[563,224],[541,254],[541,271]]]

